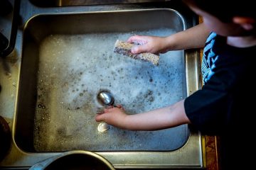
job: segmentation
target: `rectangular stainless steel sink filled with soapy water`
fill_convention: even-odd
[[[127,113],[138,114],[198,89],[196,50],[160,55],[159,66],[113,52],[117,39],[186,30],[195,23],[188,11],[137,5],[78,6],[75,12],[73,7],[29,8],[38,11],[23,16],[14,153],[1,164],[28,167],[82,149],[117,169],[203,168],[201,135],[188,125],[154,132],[110,126],[100,132],[95,122],[100,91],[110,92]],[[22,159],[11,164],[17,157]]]

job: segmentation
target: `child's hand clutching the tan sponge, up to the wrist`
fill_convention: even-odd
[[[165,47],[165,38],[162,37],[134,35],[127,42],[139,44],[132,48],[131,52],[134,54],[141,52],[156,54],[168,51]]]

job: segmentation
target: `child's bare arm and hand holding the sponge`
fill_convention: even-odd
[[[164,53],[170,50],[204,47],[209,33],[210,31],[206,28],[205,24],[201,23],[193,28],[169,35],[168,37],[134,35],[127,42],[140,44],[132,49],[132,53]]]

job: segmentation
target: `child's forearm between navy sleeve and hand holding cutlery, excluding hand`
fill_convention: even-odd
[[[146,113],[127,115],[121,128],[128,130],[161,130],[190,123],[186,116],[183,102],[179,101],[172,106]]]

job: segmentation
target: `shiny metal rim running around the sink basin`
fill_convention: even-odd
[[[176,11],[176,10],[173,10],[173,9],[170,9],[170,8],[157,8],[157,9],[153,9],[153,10],[161,10],[161,9],[164,9],[164,10],[171,10],[171,11]],[[149,11],[150,9],[145,9],[146,11]],[[141,10],[120,10],[120,11],[141,11]],[[120,11],[110,11],[110,12],[120,12]],[[109,11],[95,11],[95,12],[89,12],[89,13],[106,13],[106,12],[109,12]],[[83,13],[88,13],[88,12],[83,12]],[[32,16],[28,21],[30,21],[33,17],[36,17],[36,16],[41,16],[41,15],[65,15],[65,14],[70,14],[70,13],[41,13],[41,14],[38,14],[38,15],[35,15],[35,16]],[[73,14],[82,14],[82,13],[73,13]],[[26,22],[26,25],[25,27],[27,26],[28,24],[28,21]],[[25,28],[24,27],[24,28]],[[195,70],[193,70],[194,72],[187,72],[186,70],[186,81],[188,81],[187,77],[192,77],[192,78],[195,78],[196,79],[194,80],[194,84],[188,84],[188,88],[187,88],[187,94],[192,94],[193,91],[196,91],[198,89],[198,77],[195,76],[196,74],[198,74],[198,52],[197,51],[191,51],[191,50],[185,50],[185,55],[186,55],[186,69],[190,68],[191,67],[191,63],[195,64],[196,65],[196,68],[194,68]],[[188,55],[193,55],[193,57],[188,57]],[[189,75],[188,75],[189,74]],[[194,76],[193,76],[194,74]],[[19,79],[19,78],[18,78]],[[191,81],[191,80],[189,80]],[[18,84],[19,86],[19,84]],[[17,95],[17,98],[16,98],[18,101],[18,95]],[[14,121],[13,121],[13,127],[15,127],[15,123],[16,123],[16,103],[15,103],[15,113],[14,113]],[[188,155],[188,157],[194,157],[195,155],[195,150],[198,151],[200,157],[198,160],[196,160],[194,163],[195,163],[195,167],[202,167],[203,166],[203,162],[202,162],[202,159],[201,157],[203,157],[202,155],[202,148],[201,148],[201,134],[200,132],[193,132],[193,130],[189,130],[190,135],[188,137],[188,140],[186,142],[185,145],[183,145],[183,147],[175,150],[175,151],[171,151],[171,152],[154,152],[154,153],[149,153],[149,152],[96,152],[100,155],[102,155],[103,157],[105,157],[107,160],[109,160],[110,162],[113,162],[112,164],[117,167],[117,168],[134,168],[134,167],[139,167],[139,168],[142,168],[142,167],[188,167],[189,165],[186,165],[186,164],[183,164],[182,161],[179,161],[179,159],[183,159],[183,155]],[[12,131],[12,138],[13,138],[13,141],[14,141],[14,145],[16,147],[16,149],[18,150],[18,152],[21,152],[21,154],[23,154],[23,156],[25,157],[26,156],[26,159],[27,160],[32,160],[31,162],[35,162],[36,160],[38,159],[44,159],[44,158],[47,158],[47,157],[50,157],[50,156],[53,156],[53,155],[57,155],[57,154],[60,154],[62,152],[55,152],[55,153],[29,153],[29,152],[24,152],[23,150],[21,150],[21,148],[19,148],[17,145],[16,145],[16,142],[14,140],[14,135],[15,135],[15,128],[14,130]],[[199,143],[198,146],[196,146],[196,148],[193,146],[193,142],[196,142],[196,143]],[[192,146],[192,147],[191,147]],[[188,149],[190,148],[190,149]],[[134,155],[137,155],[137,154],[140,154],[141,157],[151,157],[150,159],[150,162],[151,164],[149,165],[148,162],[149,162],[149,159],[147,159],[146,161],[147,162],[144,162],[145,160],[137,160],[137,161],[134,161]],[[168,154],[171,154],[172,157],[174,157],[174,160],[172,158],[172,160],[170,162],[179,162],[180,164],[176,164],[176,165],[170,165],[170,164],[166,164],[166,162],[156,162],[156,159],[154,159],[155,157],[159,158],[159,157],[162,157],[164,158],[165,156],[167,156]],[[117,160],[116,158],[114,157],[119,157],[119,160]],[[187,156],[186,156],[187,157]],[[153,158],[153,159],[152,159]],[[125,159],[125,161],[124,161]],[[138,164],[138,162],[141,161],[140,164]],[[118,163],[119,162],[119,163]],[[127,163],[128,162],[128,163]],[[161,164],[160,164],[161,163]],[[191,167],[191,166],[189,166]]]

